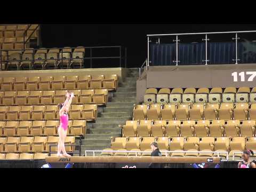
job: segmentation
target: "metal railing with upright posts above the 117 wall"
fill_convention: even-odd
[[[209,57],[208,57],[208,53],[207,53],[207,49],[208,49],[208,45],[207,43],[210,41],[209,39],[209,35],[212,34],[235,34],[235,37],[233,37],[232,39],[235,40],[235,54],[236,57],[235,59],[233,59],[233,61],[235,61],[235,64],[238,64],[238,48],[237,48],[237,44],[238,44],[238,34],[244,34],[244,33],[256,33],[256,30],[252,30],[252,31],[225,31],[225,32],[209,32],[209,33],[181,33],[181,34],[155,34],[155,35],[147,35],[147,55],[148,55],[148,63],[150,63],[150,51],[149,51],[149,46],[151,43],[151,39],[150,38],[158,38],[156,43],[160,44],[160,38],[161,37],[167,37],[167,36],[174,36],[175,39],[173,39],[173,42],[176,43],[176,55],[175,55],[175,60],[173,62],[175,62],[175,65],[178,66],[178,63],[180,62],[179,58],[178,58],[178,46],[179,46],[179,42],[180,36],[185,36],[185,35],[205,35],[205,37],[202,39],[202,41],[205,42],[205,59],[203,60],[203,62],[205,62],[205,65],[208,65],[209,63]],[[228,63],[227,63],[228,64]]]

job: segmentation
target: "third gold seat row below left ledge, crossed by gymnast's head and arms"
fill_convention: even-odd
[[[97,105],[71,105],[69,119],[97,118]],[[0,106],[0,121],[59,119],[58,106]]]

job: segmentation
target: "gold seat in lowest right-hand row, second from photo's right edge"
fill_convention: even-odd
[[[242,158],[242,153],[234,154],[234,152],[243,152],[245,149],[245,138],[244,137],[233,137],[229,143],[230,151],[228,156]]]

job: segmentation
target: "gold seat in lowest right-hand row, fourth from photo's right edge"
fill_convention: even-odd
[[[203,137],[199,138],[199,150],[200,151],[214,151],[214,138],[213,137]],[[213,153],[199,153],[199,156],[212,157]]]

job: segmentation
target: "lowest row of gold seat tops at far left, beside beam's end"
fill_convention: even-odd
[[[0,153],[0,159],[17,160],[17,159],[45,159],[48,153]]]

